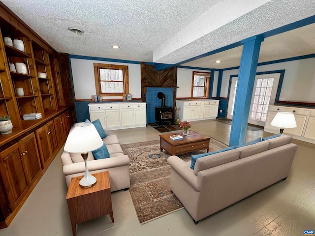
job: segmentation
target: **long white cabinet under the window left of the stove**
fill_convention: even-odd
[[[91,121],[99,119],[105,130],[145,127],[145,102],[90,103]]]

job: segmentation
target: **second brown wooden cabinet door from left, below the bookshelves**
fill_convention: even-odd
[[[22,151],[22,161],[24,171],[29,186],[36,180],[41,172],[38,149],[36,145],[35,134],[31,133],[19,141],[19,148]]]

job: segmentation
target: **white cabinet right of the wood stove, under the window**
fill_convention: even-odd
[[[218,117],[219,100],[177,100],[178,118],[188,121]]]

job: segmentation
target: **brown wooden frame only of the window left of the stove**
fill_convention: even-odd
[[[103,63],[93,63],[94,65],[94,75],[95,75],[95,89],[96,94],[100,96],[122,96],[126,93],[129,93],[129,72],[127,65],[115,65],[115,64],[103,64]],[[102,93],[101,89],[101,80],[100,80],[100,69],[109,69],[109,70],[122,70],[123,71],[123,92],[106,92]]]

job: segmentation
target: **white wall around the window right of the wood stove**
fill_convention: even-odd
[[[190,97],[191,96],[191,83],[192,83],[192,72],[208,72],[210,70],[198,70],[198,69],[186,69],[186,68],[177,68],[177,90],[176,97]],[[218,84],[218,77],[217,77]],[[217,86],[216,86],[217,91]]]

